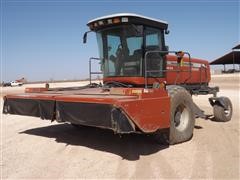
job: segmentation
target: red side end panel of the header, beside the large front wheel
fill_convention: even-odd
[[[143,132],[155,132],[170,126],[170,98],[163,89],[120,104]]]

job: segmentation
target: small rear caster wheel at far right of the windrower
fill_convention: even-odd
[[[213,106],[214,120],[218,122],[227,122],[232,118],[232,103],[227,97],[221,98],[227,108],[224,108],[220,103],[215,103]]]

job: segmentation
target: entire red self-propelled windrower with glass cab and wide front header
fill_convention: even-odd
[[[209,87],[208,61],[165,44],[168,24],[136,14],[114,14],[90,21],[99,58],[90,58],[90,84],[74,88],[27,88],[6,95],[3,113],[36,116],[115,133],[166,135],[170,144],[192,137],[195,117],[206,118],[191,95],[212,94],[215,120],[229,121],[232,104]],[[87,34],[84,34],[84,42]],[[100,62],[103,85],[91,81],[91,62]],[[166,130],[166,131],[165,131]]]

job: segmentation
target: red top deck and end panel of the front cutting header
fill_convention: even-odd
[[[113,88],[108,93],[101,88],[90,88],[71,94],[64,91],[58,93],[43,91],[42,93],[7,95],[5,98],[111,104],[122,109],[130,121],[143,132],[154,132],[168,128],[170,125],[170,98],[164,88],[147,91],[143,88]]]

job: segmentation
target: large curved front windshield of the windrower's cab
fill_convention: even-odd
[[[122,25],[97,32],[105,77],[142,76],[142,32],[141,25]]]

